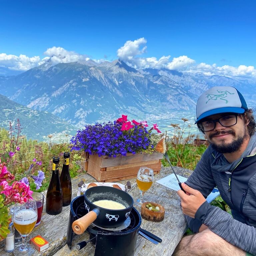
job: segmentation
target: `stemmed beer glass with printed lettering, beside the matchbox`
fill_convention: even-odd
[[[37,207],[34,199],[29,199],[24,203],[16,203],[13,209],[12,220],[15,228],[22,236],[22,244],[15,247],[15,256],[31,255],[35,247],[27,244],[27,237],[34,228],[37,221]]]

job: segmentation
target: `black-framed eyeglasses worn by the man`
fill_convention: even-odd
[[[219,119],[215,119],[215,120],[204,121],[202,123],[199,123],[199,127],[201,128],[202,131],[209,132],[216,127],[217,122],[219,122],[224,127],[233,126],[237,123],[237,114],[223,116],[223,117],[221,117]]]

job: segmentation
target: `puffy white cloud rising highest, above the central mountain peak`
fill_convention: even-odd
[[[136,55],[141,55],[147,49],[147,46],[144,46],[141,50],[141,45],[147,43],[147,40],[144,37],[141,37],[134,41],[126,41],[124,46],[117,50],[117,56],[121,60],[131,60]]]

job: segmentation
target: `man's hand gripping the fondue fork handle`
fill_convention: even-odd
[[[206,201],[204,196],[185,183],[181,183],[186,194],[182,190],[178,190],[177,193],[181,199],[182,212],[192,218],[195,218],[195,214],[198,208]],[[189,195],[188,195],[189,194]]]

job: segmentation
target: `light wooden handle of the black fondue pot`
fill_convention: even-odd
[[[97,214],[98,213],[98,214]],[[72,224],[72,229],[77,235],[81,235],[94,222],[100,211],[96,208],[85,214],[83,217],[75,220]]]

